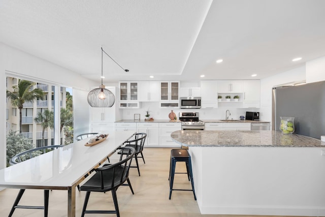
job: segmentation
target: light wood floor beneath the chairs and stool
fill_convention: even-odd
[[[129,179],[135,194],[132,195],[128,187],[120,187],[117,199],[121,217],[234,217],[239,215],[202,215],[190,191],[173,191],[169,200],[169,160],[171,148],[145,148],[146,164],[139,159],[141,176],[136,168],[130,169]],[[117,160],[112,156],[111,162]],[[135,162],[133,162],[135,163]],[[185,172],[185,165],[178,162],[176,172]],[[190,189],[190,182],[186,174],[176,174],[174,188]],[[0,216],[8,216],[11,206],[19,190],[6,189],[0,192]],[[76,194],[76,216],[81,215],[85,192]],[[42,190],[26,190],[20,202],[21,205],[42,205]],[[91,193],[88,207],[93,209],[112,209],[113,201],[110,192]],[[13,216],[38,217],[43,216],[43,210],[16,209]],[[67,192],[51,191],[49,198],[49,216],[67,216]],[[86,214],[85,216],[116,216],[115,214]],[[241,215],[248,216],[248,215]],[[255,217],[257,215],[254,215]],[[269,216],[270,217],[270,216]]]

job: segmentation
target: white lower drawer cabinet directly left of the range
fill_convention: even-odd
[[[180,144],[174,142],[171,133],[181,130],[180,122],[159,123],[159,146],[160,147],[181,147]]]

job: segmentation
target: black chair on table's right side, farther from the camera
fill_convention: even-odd
[[[146,141],[146,137],[147,137],[146,133],[136,133],[135,134],[135,139],[127,140],[126,142],[124,142],[125,146],[134,147],[136,149],[136,153],[134,155],[134,158],[136,159],[137,166],[131,166],[131,167],[138,168],[139,176],[140,176],[140,169],[139,169],[138,158],[142,158],[143,163],[144,164],[146,163],[144,161],[144,157],[143,157],[143,153],[142,153],[143,148],[144,148],[144,143]],[[121,154],[120,160],[122,160],[122,157],[123,157],[123,155],[125,153],[123,153],[123,151],[119,151],[118,154]],[[141,154],[141,156],[139,156],[139,154]]]

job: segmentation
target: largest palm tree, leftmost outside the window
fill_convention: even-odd
[[[25,102],[33,102],[34,100],[43,99],[44,91],[40,88],[34,88],[35,83],[27,80],[18,80],[18,85],[12,86],[14,91],[7,90],[7,98],[11,104],[19,109],[19,133],[21,133],[21,110]]]

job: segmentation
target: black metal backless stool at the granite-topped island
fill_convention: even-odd
[[[188,180],[191,181],[192,189],[173,189],[174,184],[174,176],[175,176],[175,168],[176,168],[176,162],[185,162],[186,165],[186,173]],[[194,195],[194,200],[197,200],[197,197],[195,195],[194,191],[194,182],[193,182],[193,173],[192,173],[192,163],[191,163],[191,157],[187,151],[187,149],[172,149],[171,150],[171,162],[170,162],[170,170],[169,170],[169,199],[172,197],[172,191],[192,191]]]

